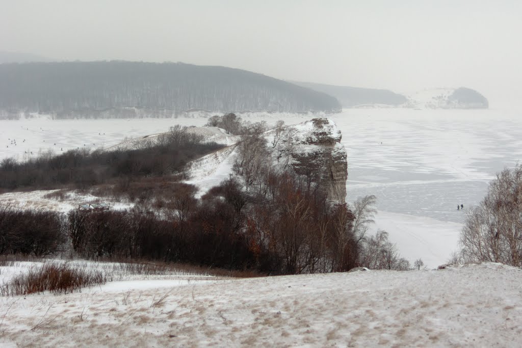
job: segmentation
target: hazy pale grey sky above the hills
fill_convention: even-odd
[[[0,50],[287,80],[522,95],[520,0],[0,0]]]

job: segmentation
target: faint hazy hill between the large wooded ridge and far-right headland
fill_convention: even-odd
[[[401,94],[386,89],[358,88],[347,86],[322,85],[312,82],[293,82],[296,85],[311,88],[337,98],[342,107],[354,107],[361,105],[389,105],[399,106],[408,101]]]

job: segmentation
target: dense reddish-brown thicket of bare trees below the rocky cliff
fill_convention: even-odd
[[[346,205],[306,193],[299,179],[288,174],[269,187],[269,194],[259,197],[229,178],[201,200],[195,199],[194,190],[185,190],[173,195],[172,214],[73,210],[61,219],[53,212],[4,209],[0,254],[45,255],[70,246],[76,255],[91,259],[151,259],[271,274],[342,271],[357,265],[353,215]],[[54,224],[39,226],[31,214],[50,217]],[[34,227],[24,230],[29,224]],[[45,253],[39,251],[42,246]]]

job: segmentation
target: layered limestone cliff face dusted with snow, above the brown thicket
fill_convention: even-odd
[[[328,118],[313,118],[294,125],[290,165],[309,185],[319,183],[330,199],[346,199],[348,161],[341,131]]]

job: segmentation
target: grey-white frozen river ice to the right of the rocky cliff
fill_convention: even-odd
[[[333,118],[348,150],[348,199],[374,194],[380,210],[462,222],[457,205],[476,205],[495,173],[522,159],[520,116],[345,110]]]

